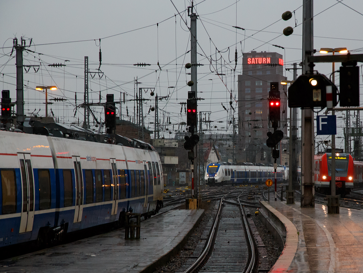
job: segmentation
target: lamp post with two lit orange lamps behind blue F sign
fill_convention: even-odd
[[[327,54],[332,52],[333,55],[335,52],[338,53],[347,53],[347,48],[321,48],[320,53]],[[334,84],[334,62],[333,62],[333,84]],[[334,107],[333,107],[334,109]],[[332,115],[335,115],[335,111],[331,111]],[[328,213],[339,213],[339,198],[337,199],[336,192],[335,192],[335,135],[331,135],[331,186],[330,186],[330,196],[328,197]],[[337,199],[337,200],[336,200]],[[335,201],[333,201],[335,200]],[[337,207],[334,206],[337,202]]]

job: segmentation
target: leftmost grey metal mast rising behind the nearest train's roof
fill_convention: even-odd
[[[23,91],[23,46],[15,41],[16,49],[16,122],[23,126],[24,122],[24,91]],[[23,43],[23,41],[22,41]]]

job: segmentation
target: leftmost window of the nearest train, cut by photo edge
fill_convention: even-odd
[[[3,192],[2,214],[16,212],[15,170],[1,170],[1,190]]]

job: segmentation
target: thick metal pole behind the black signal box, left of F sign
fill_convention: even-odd
[[[307,58],[313,55],[313,0],[303,1],[302,61],[303,74],[313,72]],[[301,207],[314,207],[313,156],[314,156],[314,114],[311,109],[302,110],[302,188]]]

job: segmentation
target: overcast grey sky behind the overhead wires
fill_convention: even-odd
[[[363,1],[343,0],[314,1],[314,48],[347,47],[352,53],[360,51],[362,46]],[[24,52],[24,65],[39,65],[35,72],[30,68],[24,71],[25,114],[45,114],[45,95],[36,91],[36,85],[57,85],[58,90],[49,91],[49,98],[63,97],[66,102],[55,102],[51,105],[55,117],[60,122],[83,121],[83,109],[75,110],[75,94],[77,105],[82,103],[84,90],[84,56],[89,57],[89,68],[97,72],[99,67],[98,54],[101,47],[102,78],[92,74],[90,78],[90,100],[99,101],[101,91],[102,101],[106,94],[114,94],[120,98],[120,92],[126,93],[126,100],[134,98],[134,77],[141,82],[138,87],[155,87],[158,96],[168,96],[159,102],[159,117],[166,123],[170,118],[168,129],[178,130],[176,125],[185,121],[184,109],[180,115],[180,102],[185,102],[190,87],[186,82],[190,75],[185,74],[184,65],[190,62],[190,37],[184,21],[190,25],[190,20],[184,12],[190,5],[189,1],[173,0],[180,12],[178,15],[171,1],[0,1],[0,85],[9,89],[13,101],[16,100],[16,67],[15,52],[12,51],[13,38],[26,37],[26,45],[33,52]],[[231,109],[227,111],[221,102],[229,106],[229,92],[237,98],[237,75],[241,73],[241,58],[238,59],[236,72],[234,68],[234,51],[238,57],[251,50],[278,52],[284,56],[286,68],[293,62],[301,62],[302,47],[302,0],[258,0],[247,1],[217,1],[204,0],[194,2],[199,19],[197,21],[198,62],[204,66],[198,67],[198,97],[204,98],[198,106],[200,111],[211,111],[212,133],[229,133],[226,121],[231,118]],[[200,3],[200,4],[198,4]],[[345,4],[345,5],[343,5]],[[347,7],[347,6],[349,7]],[[352,10],[352,9],[355,9]],[[325,10],[326,9],[326,10]],[[285,11],[295,11],[288,21],[281,20]],[[324,11],[325,10],[325,11]],[[362,13],[362,14],[360,14]],[[296,19],[296,27],[295,20]],[[158,23],[158,26],[156,25]],[[232,26],[245,28],[237,30]],[[284,36],[282,30],[294,27],[291,36]],[[259,30],[262,31],[258,32]],[[99,43],[101,38],[101,44]],[[285,48],[276,48],[280,45]],[[230,49],[230,52],[227,49]],[[216,54],[216,48],[220,52]],[[213,66],[209,66],[212,55]],[[316,53],[319,55],[319,53]],[[207,56],[207,57],[205,57]],[[175,58],[176,61],[175,61]],[[69,61],[65,61],[69,60]],[[232,61],[231,64],[229,60]],[[161,71],[157,63],[159,62]],[[66,64],[62,68],[53,68],[48,64]],[[151,66],[138,68],[133,64],[146,63]],[[219,73],[222,69],[226,77],[222,80],[215,75],[216,66]],[[340,64],[335,64],[338,69]],[[37,67],[35,67],[37,69]],[[317,64],[320,73],[331,73],[331,65]],[[213,72],[211,72],[211,70]],[[100,74],[101,76],[102,74]],[[286,72],[289,80],[292,73]],[[336,83],[339,74],[336,73]],[[173,87],[174,86],[174,87]],[[227,87],[226,87],[227,86]],[[170,87],[170,88],[168,88]],[[201,93],[203,92],[203,93]],[[143,98],[153,99],[150,91],[143,94]],[[144,105],[145,126],[154,130],[154,112],[148,111],[154,101],[146,101]],[[134,102],[122,104],[122,114],[134,117]],[[236,107],[234,102],[233,107]],[[34,111],[34,109],[36,109]],[[39,111],[39,109],[41,109]],[[50,109],[49,109],[50,111]],[[95,112],[103,119],[102,107],[95,108]],[[352,112],[353,114],[353,112]],[[342,116],[340,113],[337,116]],[[235,113],[237,117],[237,113]],[[125,118],[125,117],[124,117]],[[90,119],[93,124],[93,118]],[[217,123],[223,121],[223,123]],[[344,127],[339,119],[337,125]],[[181,128],[180,128],[181,129]],[[183,128],[184,129],[184,128]],[[342,136],[342,128],[338,134]],[[166,132],[167,133],[167,132]],[[164,133],[162,133],[164,134]],[[168,134],[165,134],[169,137]],[[328,137],[328,136],[326,136]],[[322,138],[322,139],[325,139]],[[337,147],[344,147],[343,139],[337,139]]]

